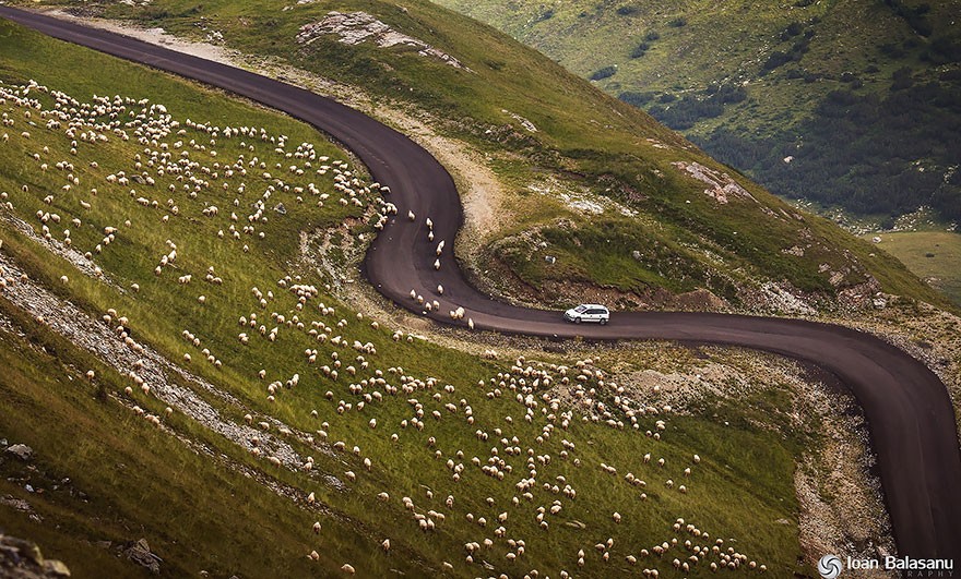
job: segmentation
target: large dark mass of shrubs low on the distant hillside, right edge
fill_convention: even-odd
[[[911,76],[910,69],[899,72],[900,79]],[[920,172],[912,164],[917,158],[940,167],[957,162],[959,113],[961,88],[939,82],[914,82],[887,95],[841,89],[792,131],[757,137],[744,126],[722,128],[698,145],[783,196],[889,215],[925,204],[945,219],[959,219],[961,171],[950,177],[944,170]],[[787,155],[795,156],[791,165],[782,160]]]

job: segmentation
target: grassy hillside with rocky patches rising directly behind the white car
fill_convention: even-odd
[[[878,289],[945,302],[895,260],[797,212],[634,107],[430,2],[82,5],[83,14],[163,26],[360,86],[376,100],[416,107],[441,133],[472,144],[509,201],[485,224],[480,263],[471,265],[478,277],[498,272],[491,277],[505,284],[494,289],[515,299],[560,305],[584,284],[604,287],[621,306],[685,305],[673,297],[707,289],[734,309],[779,311],[773,286],[816,307],[833,305],[841,292]],[[372,14],[462,67],[411,45],[380,47],[376,35],[347,45],[337,34],[301,29],[331,11]],[[705,194],[725,186],[734,191],[722,192],[727,203]],[[572,196],[607,208],[598,218]]]

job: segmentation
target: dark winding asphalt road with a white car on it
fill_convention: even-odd
[[[899,554],[953,557],[961,565],[961,448],[948,393],[924,364],[868,334],[811,322],[709,313],[615,312],[607,326],[565,323],[559,312],[514,307],[471,287],[453,257],[463,224],[458,191],[444,168],[401,133],[329,98],[225,64],[32,12],[0,7],[0,16],[260,101],[301,119],[353,150],[373,178],[390,185],[399,208],[377,237],[364,274],[382,294],[420,313],[414,289],[441,302],[427,314],[451,324],[458,305],[477,328],[592,339],[671,339],[764,350],[811,362],[835,374],[864,409],[877,454]],[[2,55],[0,55],[2,59]],[[413,210],[415,221],[407,212]],[[428,242],[424,219],[434,221]],[[446,240],[440,270],[437,242]],[[436,288],[443,285],[443,295]]]

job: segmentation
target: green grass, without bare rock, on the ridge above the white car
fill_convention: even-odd
[[[420,0],[400,5],[391,1],[339,0],[283,11],[263,0],[203,4],[158,0],[149,7],[110,4],[97,10],[106,16],[163,26],[193,38],[204,38],[204,31],[216,31],[223,34],[226,46],[245,53],[277,58],[361,86],[375,100],[411,102],[429,111],[440,132],[465,140],[489,155],[499,177],[511,184],[521,182],[524,186],[548,176],[562,186],[609,197],[637,212],[636,226],[625,220],[626,228],[637,227],[640,231],[638,226],[659,222],[663,229],[645,230],[653,236],[652,244],[684,246],[652,252],[650,258],[638,261],[630,257],[631,249],[597,243],[592,248],[596,258],[584,260],[577,266],[578,275],[593,284],[618,288],[657,286],[674,292],[691,287],[693,282],[689,280],[727,279],[737,287],[727,282],[703,286],[722,295],[734,295],[734,305],[738,306],[739,290],[764,281],[786,280],[800,290],[822,293],[830,301],[837,288],[828,284],[830,273],[818,272],[821,264],[828,264],[832,270],[853,272],[842,287],[861,284],[870,274],[882,280],[887,291],[940,303],[939,294],[903,275],[894,260],[880,257],[869,264],[858,263],[852,257],[859,253],[856,240],[831,230],[827,224],[812,226],[817,219],[811,216],[806,217],[807,224],[787,216],[796,209],[748,183],[746,178],[735,174],[759,203],[719,206],[703,195],[702,183],[681,176],[671,164],[696,160],[721,171],[733,171],[649,116],[603,95],[534,50],[434,3]],[[331,10],[369,12],[398,31],[454,56],[470,71],[410,50],[381,49],[370,43],[346,46],[330,35],[319,37],[309,47],[298,45],[295,37],[299,27],[322,19]],[[548,22],[560,22],[560,12]],[[671,12],[663,17],[676,16],[675,9]],[[659,28],[661,39],[654,41],[655,47],[669,37],[690,34],[697,23],[693,19],[688,21],[686,26],[671,32]],[[530,120],[537,132],[521,128],[511,113]],[[520,215],[503,221],[526,222],[544,230],[553,228],[547,217],[551,212],[542,209],[544,204],[532,203],[524,209],[514,209]],[[567,213],[569,219],[590,227],[589,216]],[[507,234],[510,232],[500,231],[495,239]],[[817,251],[803,257],[781,253],[807,234],[815,236]],[[527,248],[521,250],[523,253]],[[720,255],[721,260],[710,258],[707,252]],[[498,260],[494,252],[484,256]],[[501,260],[500,264],[480,264],[479,268],[497,265],[506,265],[518,278],[534,286],[561,279],[553,273],[557,269],[525,267],[510,258]],[[622,275],[612,276],[613,270],[621,268]],[[688,278],[672,280],[665,275],[677,270],[685,272]],[[549,299],[545,297],[545,301]]]

